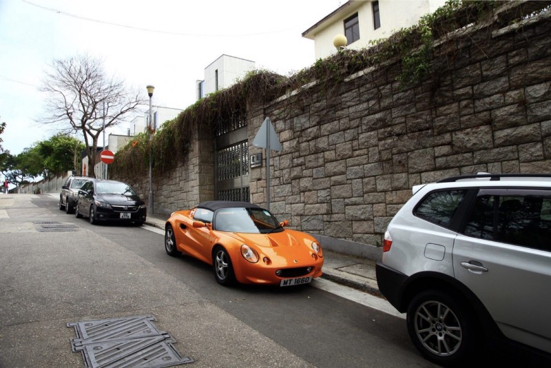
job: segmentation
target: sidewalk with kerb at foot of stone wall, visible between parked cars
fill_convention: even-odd
[[[164,230],[166,219],[162,215],[148,215],[145,223]],[[326,249],[323,249],[323,254],[322,278],[382,297],[375,278],[375,260],[346,256]]]

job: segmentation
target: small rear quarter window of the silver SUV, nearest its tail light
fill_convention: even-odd
[[[466,190],[439,190],[429,193],[413,211],[415,216],[436,225],[449,227],[450,221],[463,201]]]

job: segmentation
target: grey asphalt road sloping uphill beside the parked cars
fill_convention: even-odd
[[[91,225],[48,195],[0,196],[0,367],[83,367],[67,323],[151,314],[183,367],[430,367],[404,320],[311,285],[222,287],[147,227]],[[39,232],[37,222],[76,225]],[[477,361],[480,357],[476,357]],[[476,365],[476,364],[475,364]]]

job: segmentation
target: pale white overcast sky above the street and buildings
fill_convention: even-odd
[[[35,121],[54,59],[89,54],[154,105],[185,109],[205,67],[227,54],[288,75],[312,65],[302,32],[345,0],[0,0],[3,148],[19,154],[56,134]],[[144,107],[147,110],[147,106]],[[132,119],[134,116],[130,116]],[[119,133],[119,132],[114,132]]]

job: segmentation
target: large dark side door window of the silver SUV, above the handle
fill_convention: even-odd
[[[489,194],[481,190],[466,236],[551,251],[551,193]]]

